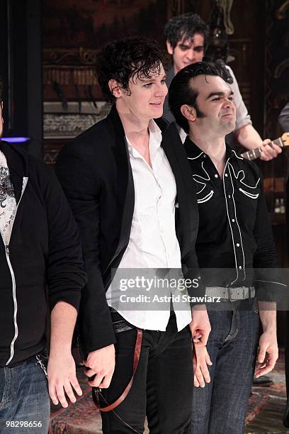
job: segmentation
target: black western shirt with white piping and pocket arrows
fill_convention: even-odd
[[[188,137],[184,146],[198,199],[196,252],[204,283],[255,286],[259,299],[275,301],[285,285],[277,270],[259,168],[227,145],[222,179],[210,157]]]

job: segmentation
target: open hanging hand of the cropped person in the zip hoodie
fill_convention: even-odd
[[[82,395],[79,382],[77,381],[74,358],[71,352],[62,352],[57,355],[50,353],[47,377],[49,394],[53,404],[57,405],[60,401],[62,407],[68,406],[64,392],[67,394],[70,401],[77,401],[72,387],[79,396]]]

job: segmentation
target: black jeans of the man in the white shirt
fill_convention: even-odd
[[[135,338],[135,328],[116,333],[115,372],[111,386],[103,389],[108,404],[118,399],[130,381]],[[191,434],[192,402],[191,332],[187,326],[178,333],[172,313],[165,332],[143,331],[132,389],[115,413],[137,433],[143,433],[147,414],[150,434]],[[104,434],[133,433],[112,411],[101,417]]]

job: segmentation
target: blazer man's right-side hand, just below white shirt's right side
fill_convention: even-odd
[[[206,345],[210,335],[210,320],[204,304],[198,304],[192,308],[191,334],[195,347]]]

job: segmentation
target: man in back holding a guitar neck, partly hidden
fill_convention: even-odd
[[[209,28],[197,13],[183,13],[171,18],[164,28],[166,48],[172,56],[173,65],[167,71],[166,84],[169,87],[174,75],[187,65],[201,62],[208,48]],[[236,106],[236,127],[234,136],[244,148],[251,150],[261,148],[261,160],[271,160],[281,152],[280,147],[271,143],[271,140],[262,140],[259,133],[252,126],[251,117],[242,99],[234,72],[226,65],[233,79],[230,85],[234,92],[234,104]],[[174,122],[174,116],[169,110],[167,99],[164,102],[164,118]],[[186,134],[181,130],[183,140]]]

